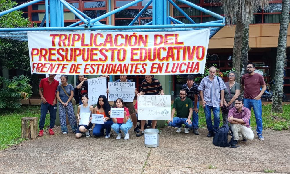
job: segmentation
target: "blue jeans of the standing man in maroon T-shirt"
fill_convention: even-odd
[[[251,110],[253,107],[255,117],[256,117],[256,124],[257,124],[257,133],[262,134],[263,131],[263,122],[262,122],[262,101],[261,100],[254,100],[254,99],[246,99],[244,98],[244,107]],[[250,124],[250,120],[249,120]]]

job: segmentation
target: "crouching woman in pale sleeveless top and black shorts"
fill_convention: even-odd
[[[79,126],[77,126],[77,131],[75,132],[76,138],[80,138],[82,135],[86,135],[86,137],[90,137],[89,129],[93,127],[93,124],[91,123],[91,117],[92,117],[92,113],[94,113],[94,107],[91,105],[88,105],[88,100],[89,100],[88,95],[83,95],[83,97],[81,97],[82,104],[77,107],[77,118],[79,119],[79,121],[81,121],[82,113],[90,113],[90,120],[89,120],[88,125],[79,124]]]

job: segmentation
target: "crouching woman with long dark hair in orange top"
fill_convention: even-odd
[[[109,111],[111,106],[107,100],[107,97],[100,95],[98,98],[97,106],[94,108],[94,114],[104,115],[104,124],[95,124],[93,129],[93,135],[99,137],[104,135],[104,128],[106,128],[105,138],[110,138],[111,126],[113,124],[112,119],[110,118]]]

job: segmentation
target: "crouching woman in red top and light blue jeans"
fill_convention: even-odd
[[[133,123],[129,119],[129,110],[124,107],[124,102],[122,98],[118,98],[116,100],[116,108],[124,108],[124,118],[112,118],[114,124],[112,125],[112,129],[118,134],[116,139],[121,139],[121,131],[124,132],[125,137],[124,140],[129,139],[128,131],[132,128]],[[109,111],[109,115],[111,115],[111,111]],[[121,131],[120,131],[121,130]]]

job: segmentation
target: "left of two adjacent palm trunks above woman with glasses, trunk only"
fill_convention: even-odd
[[[234,48],[233,48],[233,58],[232,58],[232,68],[237,71],[236,82],[240,83],[240,66],[241,66],[241,50],[243,41],[243,25],[241,21],[241,15],[237,16],[236,28],[235,28],[235,38],[234,38]]]

